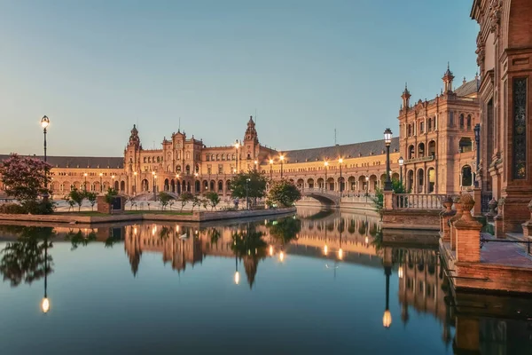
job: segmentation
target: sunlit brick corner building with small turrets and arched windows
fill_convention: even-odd
[[[474,125],[479,122],[480,79],[454,90],[449,66],[442,77],[441,95],[411,105],[405,86],[399,111],[400,151],[405,185],[414,193],[457,194],[473,188],[476,170]]]

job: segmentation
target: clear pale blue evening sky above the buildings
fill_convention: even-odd
[[[250,115],[279,150],[395,133],[401,93],[472,80],[472,1],[0,0],[0,154],[121,156],[181,127],[207,146]],[[181,122],[181,126],[180,123]]]

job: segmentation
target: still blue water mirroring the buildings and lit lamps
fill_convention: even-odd
[[[352,211],[0,225],[0,249],[0,354],[532,353],[530,319],[487,311],[512,300],[458,308],[437,248],[388,246]]]

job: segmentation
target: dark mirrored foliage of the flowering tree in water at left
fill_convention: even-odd
[[[53,272],[53,259],[47,253],[53,247],[53,228],[12,226],[8,232],[18,234],[18,238],[8,242],[0,252],[0,273],[4,280],[17,287],[22,281],[31,284]]]

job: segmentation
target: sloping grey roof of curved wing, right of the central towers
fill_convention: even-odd
[[[321,148],[289,150],[283,152],[288,162],[317,162],[337,157],[357,158],[359,156],[379,155],[386,149],[384,139],[370,142],[353,143],[339,146],[324,146]],[[399,138],[392,138],[390,152],[399,151]]]

